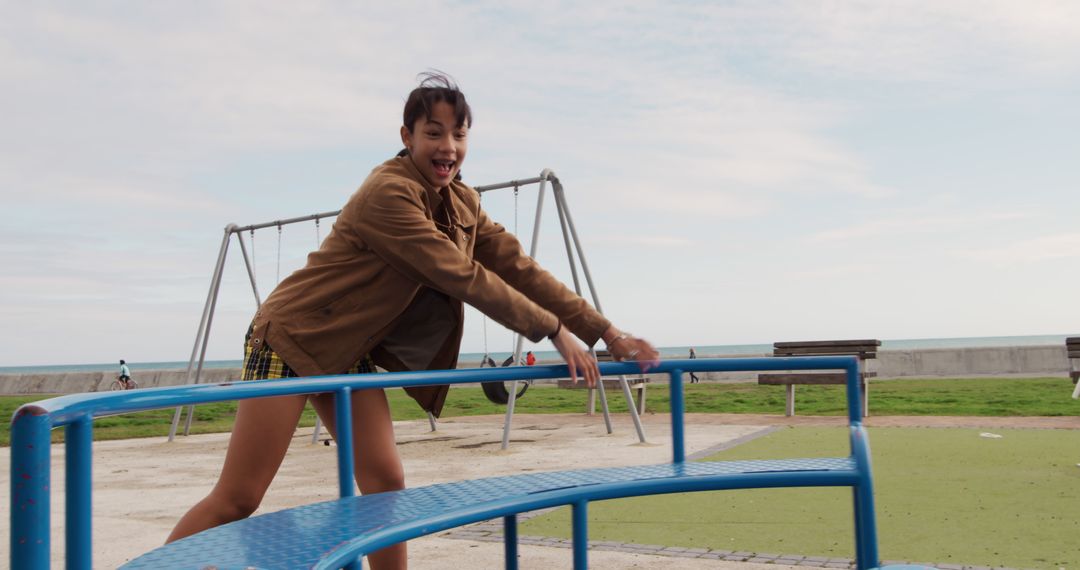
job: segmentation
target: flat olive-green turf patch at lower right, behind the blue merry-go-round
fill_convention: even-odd
[[[886,560],[1080,567],[1080,432],[870,429]],[[784,429],[713,460],[846,456],[846,429]],[[854,555],[847,489],[751,489],[590,505],[591,540],[770,554]],[[523,534],[570,537],[563,508]]]

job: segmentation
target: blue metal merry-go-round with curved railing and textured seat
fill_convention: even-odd
[[[624,376],[635,363],[604,363],[600,372]],[[838,458],[688,462],[684,447],[685,371],[842,369],[850,454]],[[341,430],[341,498],[222,525],[139,556],[123,568],[359,568],[360,557],[449,528],[502,518],[507,568],[517,568],[518,513],[572,507],[573,568],[588,568],[588,505],[624,497],[718,489],[850,487],[856,567],[878,566],[869,445],[862,425],[859,364],[851,357],[716,358],[665,361],[656,370],[672,378],[672,462],[658,465],[529,473],[462,480],[354,497],[351,430]],[[50,435],[64,426],[68,568],[91,568],[92,420],[114,413],[252,397],[332,393],[339,425],[351,424],[353,390],[470,382],[538,380],[567,376],[565,366],[438,370],[170,386],[137,392],[73,394],[21,407],[12,419],[11,568],[50,566]],[[16,476],[17,475],[17,476]]]

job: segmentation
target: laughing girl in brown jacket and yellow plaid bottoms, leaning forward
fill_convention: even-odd
[[[643,369],[658,359],[525,255],[480,207],[458,173],[472,112],[446,77],[423,76],[405,103],[405,151],[375,168],[349,199],[307,266],[285,279],[255,314],[244,380],[455,368],[462,302],[537,342],[552,341],[592,386],[596,362],[575,340],[603,339]],[[406,389],[436,417],[449,386]],[[249,516],[292,442],[305,404],[336,437],[330,394],[241,401],[225,466],[211,493],[168,541]],[[403,489],[405,476],[382,390],[352,394],[356,484],[362,493]],[[361,461],[359,458],[363,456]],[[373,569],[406,567],[405,544],[369,556]]]

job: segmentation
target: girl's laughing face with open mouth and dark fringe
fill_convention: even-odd
[[[457,124],[454,107],[438,101],[431,118],[420,117],[411,132],[402,127],[402,142],[420,174],[435,188],[449,186],[461,169],[469,147],[469,125]]]

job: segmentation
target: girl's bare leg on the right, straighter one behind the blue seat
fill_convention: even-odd
[[[337,439],[334,396],[320,394],[312,396],[311,403],[330,435]],[[397,454],[390,405],[382,390],[357,390],[352,393],[352,442],[360,492],[369,494],[405,488],[405,470]],[[373,570],[402,570],[408,566],[404,542],[372,553],[367,559]]]

